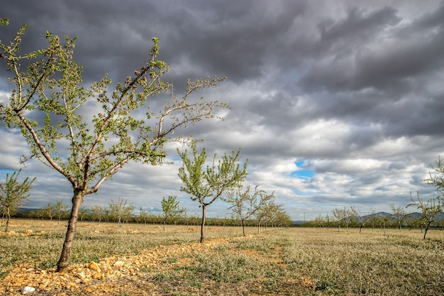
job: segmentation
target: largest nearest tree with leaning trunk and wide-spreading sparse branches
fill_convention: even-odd
[[[7,19],[0,21],[0,25],[8,23]],[[19,128],[26,138],[30,155],[23,155],[22,161],[37,158],[72,186],[70,219],[57,262],[57,271],[62,271],[69,264],[85,196],[97,192],[130,161],[165,163],[165,143],[192,141],[190,137],[173,138],[175,129],[217,117],[214,109],[230,106],[204,99],[190,101],[196,90],[216,86],[223,80],[218,77],[189,81],[183,97],[174,97],[172,84],[161,79],[169,67],[157,60],[157,38],[152,38],[154,45],[148,62],[110,92],[108,75],[91,87],[84,87],[83,68],[73,59],[76,38],[65,36],[62,45],[57,35],[47,32],[48,48],[21,53],[25,31],[23,25],[9,44],[0,41],[0,58],[12,73],[9,82],[14,85],[9,102],[0,105],[0,119],[8,128]],[[21,65],[28,65],[27,70],[21,70]],[[150,110],[148,98],[165,93],[170,94],[165,106],[157,112]],[[82,117],[85,103],[88,111],[100,110],[93,114],[92,121]],[[93,108],[91,104],[95,104]]]

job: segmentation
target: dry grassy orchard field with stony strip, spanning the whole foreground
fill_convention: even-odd
[[[3,225],[1,225],[3,226]],[[0,295],[444,295],[444,231],[257,229],[12,220],[0,234]]]

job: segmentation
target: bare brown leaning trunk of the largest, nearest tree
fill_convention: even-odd
[[[60,254],[59,262],[57,262],[57,272],[65,270],[68,265],[70,265],[72,242],[74,241],[77,219],[79,218],[79,210],[83,202],[83,197],[83,192],[74,190],[70,220],[68,221],[68,227],[65,236],[65,242],[63,243],[62,253]]]

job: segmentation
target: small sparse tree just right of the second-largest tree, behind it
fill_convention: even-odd
[[[242,187],[238,187],[235,190],[227,192],[227,196],[224,199],[226,202],[232,204],[231,209],[235,216],[238,216],[242,225],[243,236],[245,236],[245,219],[250,219],[257,211],[270,199],[274,198],[274,192],[267,194],[264,190],[257,190],[258,185],[255,187],[255,191],[250,193],[250,186],[243,190]]]

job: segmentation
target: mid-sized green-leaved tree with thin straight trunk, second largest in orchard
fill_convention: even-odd
[[[206,161],[205,148],[197,155],[196,144],[192,144],[193,160],[188,158],[187,150],[180,153],[183,164],[179,168],[179,177],[184,183],[180,188],[182,192],[191,194],[191,199],[197,201],[202,208],[201,221],[201,243],[204,242],[204,226],[206,219],[206,207],[226,194],[229,190],[239,186],[247,176],[247,162],[245,161],[241,168],[238,164],[240,149],[237,153],[233,151],[231,155],[224,154],[222,160],[216,163],[216,154],[213,157],[212,165],[207,165],[204,170]]]

